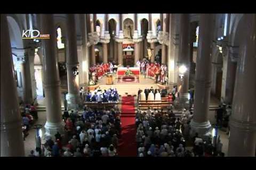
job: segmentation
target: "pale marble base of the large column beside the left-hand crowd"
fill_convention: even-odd
[[[58,122],[58,123],[52,123],[52,122],[47,122],[44,125],[45,128],[45,138],[47,137],[52,137],[55,138],[55,134],[59,132],[60,134],[64,134],[64,122]]]

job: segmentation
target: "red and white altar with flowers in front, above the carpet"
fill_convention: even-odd
[[[131,73],[127,75],[127,73]],[[139,67],[118,67],[117,76],[118,82],[139,82],[140,68]]]

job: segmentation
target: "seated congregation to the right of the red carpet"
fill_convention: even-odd
[[[138,110],[137,125],[137,155],[139,157],[202,157],[224,156],[221,151],[222,143],[213,147],[212,137],[198,137],[196,133],[189,136],[190,121],[193,112],[185,111],[177,117],[171,109],[146,112]]]

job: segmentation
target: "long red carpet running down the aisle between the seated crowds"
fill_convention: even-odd
[[[134,97],[122,97],[122,133],[118,146],[119,156],[137,156]]]

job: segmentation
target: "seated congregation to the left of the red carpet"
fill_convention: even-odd
[[[65,111],[66,136],[55,134],[46,139],[44,156],[51,157],[90,157],[116,156],[121,123],[118,108],[84,108],[82,114]]]

